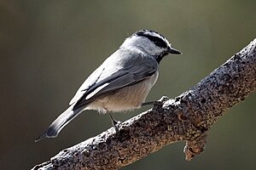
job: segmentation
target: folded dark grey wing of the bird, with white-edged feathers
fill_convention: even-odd
[[[130,66],[124,66],[124,68],[115,71],[111,76],[103,78],[101,81],[96,82],[88,88],[74,105],[73,109],[88,105],[103,94],[110,94],[119,88],[124,88],[141,82],[154,75],[157,69],[158,64],[151,59],[148,62],[148,65],[143,62],[137,62]]]

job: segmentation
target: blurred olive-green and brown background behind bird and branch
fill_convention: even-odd
[[[256,37],[255,8],[255,0],[0,1],[0,168],[30,169],[111,127],[108,116],[86,111],[57,139],[34,143],[125,37],[152,29],[183,52],[161,62],[148,95],[174,98]],[[193,161],[179,142],[122,169],[255,169],[255,104],[252,94],[228,111]]]

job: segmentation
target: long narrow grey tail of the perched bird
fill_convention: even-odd
[[[84,108],[78,108],[73,110],[73,105],[71,105],[66,111],[61,113],[54,122],[48,127],[45,133],[38,137],[35,142],[38,142],[44,138],[56,138],[61,132],[61,129],[67,125],[68,122],[71,122],[76,116],[84,111]]]

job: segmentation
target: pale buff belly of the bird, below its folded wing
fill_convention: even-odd
[[[157,78],[158,72],[143,82],[121,88],[113,94],[96,99],[86,107],[86,110],[97,110],[105,113],[107,111],[127,111],[140,108]]]

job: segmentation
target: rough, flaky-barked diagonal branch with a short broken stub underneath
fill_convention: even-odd
[[[118,169],[181,140],[191,160],[204,150],[218,118],[255,88],[256,39],[194,88],[175,99],[163,97],[151,110],[121,123],[119,133],[111,127],[32,169]]]

